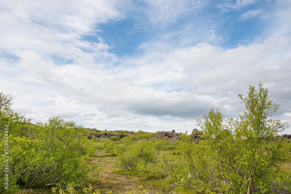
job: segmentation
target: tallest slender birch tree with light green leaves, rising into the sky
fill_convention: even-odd
[[[271,119],[270,114],[276,112],[280,105],[272,103],[267,95],[268,90],[261,83],[258,89],[250,86],[246,97],[239,94],[247,111],[239,115],[241,121],[236,134],[244,140],[242,161],[247,164],[244,180],[248,183],[248,194],[257,188],[268,188],[272,184],[270,180],[274,170],[284,158],[281,144],[272,141],[272,138],[283,131],[287,123]]]

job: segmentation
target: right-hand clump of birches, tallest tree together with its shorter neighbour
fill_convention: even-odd
[[[287,123],[270,118],[279,105],[272,103],[267,94],[268,90],[261,83],[258,89],[250,86],[245,98],[239,94],[246,106],[239,119],[224,119],[218,110],[212,109],[204,116],[205,121],[196,120],[203,129],[207,153],[216,169],[212,170],[214,176],[204,177],[209,188],[249,194],[253,191],[264,193],[274,184],[284,154],[281,143],[272,138],[283,131]],[[196,177],[198,174],[196,170]]]

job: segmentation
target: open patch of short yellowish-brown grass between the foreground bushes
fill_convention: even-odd
[[[136,193],[140,192],[140,186],[148,193],[168,193],[161,185],[167,184],[162,179],[157,179],[152,174],[140,174],[136,171],[120,170],[114,164],[116,156],[111,156],[105,150],[98,150],[99,156],[89,161],[89,165],[99,165],[100,172],[92,171],[91,180],[84,185],[92,184],[93,190],[99,189],[101,193],[111,190],[112,193]]]

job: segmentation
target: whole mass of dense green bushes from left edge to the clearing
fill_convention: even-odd
[[[4,172],[6,164],[0,161],[0,193],[14,193],[17,184],[25,188],[80,185],[89,170],[82,158],[91,149],[83,135],[84,128],[60,117],[31,124],[31,119],[13,111],[11,100],[9,95],[0,93],[0,147],[6,146],[5,137],[9,140],[9,151],[0,152],[1,158],[9,156],[8,171]],[[8,190],[3,187],[6,174]]]

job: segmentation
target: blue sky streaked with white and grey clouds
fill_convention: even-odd
[[[238,94],[260,82],[281,105],[272,119],[291,121],[289,0],[2,0],[0,10],[0,92],[32,123],[189,133],[211,108],[242,115]]]

